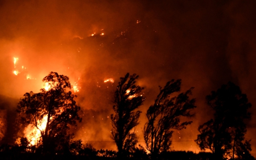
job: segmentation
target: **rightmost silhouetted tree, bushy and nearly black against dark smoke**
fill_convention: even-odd
[[[202,149],[210,149],[216,159],[224,156],[233,159],[250,157],[251,146],[249,141],[244,141],[246,133],[245,119],[250,119],[246,94],[240,88],[228,82],[222,85],[217,92],[212,91],[206,96],[208,106],[214,111],[214,119],[199,126],[195,140]]]

